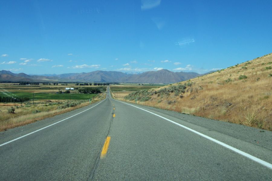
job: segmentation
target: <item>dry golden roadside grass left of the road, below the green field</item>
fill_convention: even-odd
[[[99,96],[96,96],[94,100],[92,100],[92,103],[100,101],[105,98],[105,94],[100,94]],[[28,103],[0,103],[0,131],[5,131],[11,128],[15,128],[18,126],[26,125],[29,123],[33,123],[36,121],[40,121],[45,118],[50,118],[55,115],[60,115],[65,112],[70,112],[74,109],[82,108],[84,106],[87,106],[90,104],[89,100],[82,102],[79,105],[76,105],[74,107],[68,107],[59,109],[58,106],[62,105],[50,105],[50,103],[56,103],[61,102],[63,100],[51,100],[51,102],[42,102],[42,100],[35,101],[34,105],[32,105],[32,102]],[[72,101],[73,102],[73,101]],[[69,103],[68,101],[64,103]],[[15,113],[8,113],[8,109],[15,108]],[[37,113],[34,113],[36,110],[40,111]]]

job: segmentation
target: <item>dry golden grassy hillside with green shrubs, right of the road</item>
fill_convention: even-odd
[[[167,88],[134,92],[139,104],[272,131],[272,53]]]

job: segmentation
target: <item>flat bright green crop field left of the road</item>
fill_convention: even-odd
[[[6,94],[4,94],[3,92],[0,92],[0,96],[1,97],[7,97],[7,96],[12,96],[12,97],[28,97],[30,99],[33,100],[33,93],[31,92],[12,92],[12,93],[8,93],[5,92]],[[73,100],[86,100],[86,99],[90,99],[93,96],[96,96],[97,94],[52,94],[52,93],[34,93],[34,99],[71,99]]]

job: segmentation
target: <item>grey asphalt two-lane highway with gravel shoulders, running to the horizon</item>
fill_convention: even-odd
[[[106,99],[0,132],[0,180],[272,180],[272,133]]]

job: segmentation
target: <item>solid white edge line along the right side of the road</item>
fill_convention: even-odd
[[[116,99],[114,99],[114,100],[116,100]],[[116,101],[118,101],[118,100],[116,100]],[[118,101],[118,102],[121,102],[121,101]],[[121,103],[124,103],[124,104],[127,104],[127,105],[131,105],[131,104],[128,104],[128,103],[125,103],[125,102],[121,102]],[[205,134],[199,133],[198,131],[195,131],[195,130],[193,130],[193,129],[191,129],[191,128],[188,128],[188,127],[186,127],[186,126],[183,126],[183,125],[181,125],[181,124],[179,124],[179,123],[176,123],[176,122],[174,122],[174,121],[171,121],[170,119],[164,118],[164,117],[162,117],[162,116],[160,116],[160,115],[157,115],[157,114],[155,114],[155,113],[153,113],[153,112],[144,110],[144,109],[139,108],[139,107],[134,106],[134,105],[131,105],[131,106],[133,106],[133,107],[135,107],[135,108],[138,108],[138,109],[141,109],[141,110],[143,110],[143,111],[149,112],[149,113],[151,113],[151,114],[153,114],[153,115],[156,115],[156,116],[158,116],[158,117],[160,117],[160,118],[163,118],[163,119],[165,119],[165,120],[167,120],[167,121],[169,121],[169,122],[171,122],[171,123],[174,123],[174,124],[176,124],[176,125],[178,125],[178,126],[180,126],[180,127],[182,127],[182,128],[185,128],[185,129],[189,130],[189,131],[192,131],[193,133],[196,133],[196,134],[198,134],[198,135],[200,135],[200,136],[202,136],[202,137],[205,137],[205,138],[207,138],[207,139],[209,139],[209,140],[211,140],[211,141],[213,141],[213,142],[215,142],[215,143],[217,143],[217,144],[222,145],[223,147],[226,147],[226,148],[228,148],[228,149],[230,149],[230,150],[232,150],[232,151],[235,151],[235,152],[238,153],[238,154],[241,154],[241,155],[243,155],[243,156],[245,156],[245,157],[248,157],[249,159],[254,160],[255,162],[258,162],[258,163],[260,163],[260,164],[262,164],[262,165],[264,165],[264,166],[267,166],[268,168],[272,169],[272,164],[270,164],[270,163],[268,163],[268,162],[266,162],[266,161],[264,161],[264,160],[261,160],[261,159],[259,159],[259,158],[257,158],[257,157],[254,157],[254,156],[250,155],[250,154],[247,154],[247,153],[245,153],[245,152],[243,152],[243,151],[241,151],[241,150],[238,150],[237,148],[234,148],[234,147],[232,147],[232,146],[229,146],[228,144],[225,144],[225,143],[223,143],[223,142],[221,142],[221,141],[218,141],[218,140],[216,140],[216,139],[214,139],[214,138],[212,138],[212,137],[209,137],[209,136],[207,136],[207,135],[205,135]]]

